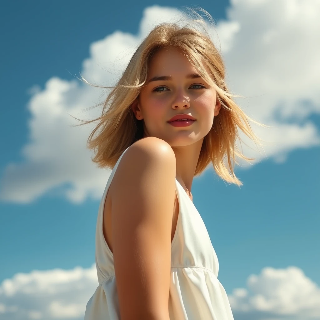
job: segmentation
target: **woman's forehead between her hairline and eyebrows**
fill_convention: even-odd
[[[149,60],[149,77],[172,76],[177,73],[189,74],[196,71],[180,48],[160,49]]]

